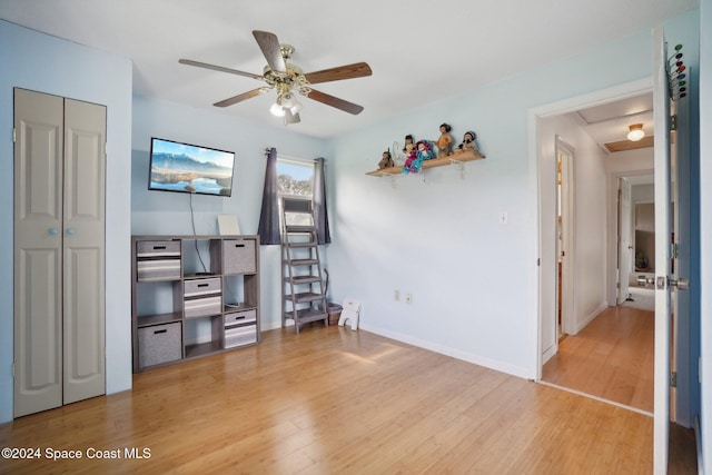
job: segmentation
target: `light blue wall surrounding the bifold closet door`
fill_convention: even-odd
[[[0,20],[0,423],[12,418],[12,88],[107,106],[107,393],[131,387],[131,61]]]

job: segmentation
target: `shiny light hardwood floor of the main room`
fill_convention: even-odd
[[[130,392],[4,424],[1,447],[38,447],[40,458],[0,459],[0,473],[650,474],[652,423],[319,325],[266,331],[258,346],[136,375]],[[48,461],[47,448],[82,458]],[[127,457],[132,448],[144,458]],[[89,458],[96,451],[120,458]],[[674,459],[672,473],[685,468]]]

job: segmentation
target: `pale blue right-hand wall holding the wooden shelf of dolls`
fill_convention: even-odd
[[[696,12],[670,24],[698,28]],[[364,304],[365,329],[524,377],[535,377],[537,215],[527,110],[652,75],[641,31],[333,140],[332,291]],[[486,65],[482,65],[486,67]],[[456,68],[453,69],[456,73]],[[417,98],[413,98],[417,102]],[[434,139],[473,129],[485,160],[395,181],[366,176],[406,133]],[[602,194],[604,190],[602,190]],[[508,225],[498,214],[508,214]],[[413,303],[394,290],[413,293]]]

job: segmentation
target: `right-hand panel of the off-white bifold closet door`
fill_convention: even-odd
[[[106,108],[66,99],[65,404],[105,393]]]

